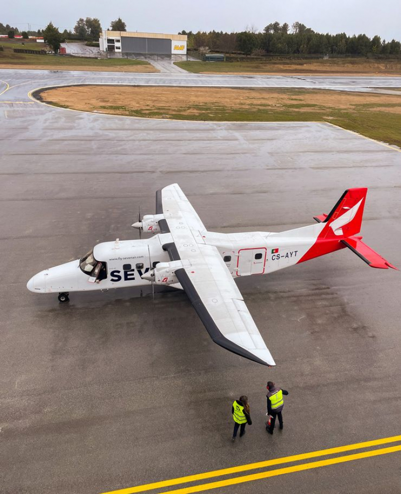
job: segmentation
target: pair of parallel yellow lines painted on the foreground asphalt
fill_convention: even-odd
[[[372,441],[365,441],[365,442],[359,442],[359,443],[355,443],[355,444],[348,444],[345,446],[339,446],[339,447],[334,447],[334,448],[329,448],[329,449],[321,449],[318,451],[311,451],[309,453],[295,454],[292,456],[285,456],[283,458],[276,458],[276,459],[272,459],[272,460],[260,461],[258,463],[249,463],[246,465],[234,466],[234,467],[230,467],[230,468],[223,468],[220,470],[214,470],[214,471],[209,471],[209,472],[204,472],[204,473],[197,473],[194,475],[187,475],[184,477],[162,480],[160,482],[152,482],[152,483],[148,483],[148,484],[137,485],[135,487],[128,487],[128,488],[123,488],[123,489],[118,489],[118,490],[112,490],[112,491],[104,492],[103,494],[133,494],[135,492],[144,492],[146,490],[151,490],[151,489],[160,489],[162,487],[169,487],[171,485],[193,482],[195,480],[204,480],[207,478],[215,478],[215,477],[219,477],[222,475],[228,475],[231,473],[239,473],[239,472],[243,472],[243,471],[247,471],[247,470],[254,470],[256,468],[264,468],[267,466],[279,465],[279,464],[283,464],[283,463],[290,463],[293,461],[299,461],[299,460],[304,460],[304,459],[309,459],[309,458],[316,458],[319,456],[326,456],[329,454],[342,453],[345,451],[352,451],[355,449],[362,449],[362,448],[378,446],[378,445],[382,445],[382,444],[389,444],[389,443],[398,442],[398,441],[401,441],[401,435],[392,436],[392,437],[384,437],[382,439],[375,439]],[[292,473],[292,472],[296,472],[296,471],[309,470],[311,468],[318,468],[320,466],[334,465],[337,463],[343,463],[346,461],[352,461],[352,460],[361,459],[361,458],[368,458],[370,456],[378,456],[381,454],[393,453],[396,451],[401,451],[401,444],[398,444],[396,446],[385,447],[385,448],[373,449],[373,450],[369,450],[369,451],[363,451],[363,452],[354,453],[354,454],[348,454],[348,455],[344,455],[344,456],[337,456],[335,458],[313,461],[313,462],[309,462],[309,463],[301,463],[298,465],[288,466],[288,467],[284,467],[284,468],[278,468],[275,470],[267,470],[267,471],[263,471],[263,472],[259,472],[259,473],[253,473],[251,475],[242,475],[242,476],[238,476],[238,477],[234,477],[234,478],[228,478],[225,480],[218,480],[215,482],[198,484],[198,485],[191,486],[191,487],[183,487],[183,488],[179,488],[179,489],[168,490],[168,491],[164,491],[162,494],[167,494],[167,492],[169,494],[189,494],[192,492],[201,492],[204,490],[215,489],[218,487],[225,487],[228,485],[234,485],[237,483],[249,482],[252,480],[258,480],[261,478],[273,477],[276,475],[284,475],[286,473]]]

